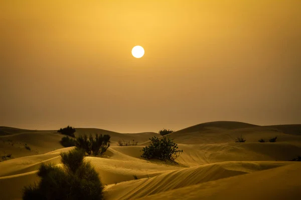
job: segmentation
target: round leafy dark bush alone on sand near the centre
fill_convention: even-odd
[[[149,139],[152,143],[142,148],[143,153],[141,157],[143,158],[175,160],[183,152],[183,150],[178,150],[178,144],[168,136],[164,136],[161,139],[154,136]]]

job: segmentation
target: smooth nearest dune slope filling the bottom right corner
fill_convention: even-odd
[[[301,163],[204,182],[141,199],[299,199]]]

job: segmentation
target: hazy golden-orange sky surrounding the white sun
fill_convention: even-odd
[[[301,0],[0,2],[0,125],[301,123]]]

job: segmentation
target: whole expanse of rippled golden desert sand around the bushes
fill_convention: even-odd
[[[301,125],[257,126],[216,121],[191,126],[170,136],[183,154],[178,164],[141,159],[141,149],[154,132],[117,133],[96,128],[77,128],[83,133],[110,134],[111,146],[101,157],[85,157],[99,172],[106,199],[300,199]],[[245,143],[235,143],[243,134]],[[276,142],[258,139],[277,136]],[[0,126],[0,200],[22,199],[22,188],[39,180],[43,162],[59,164],[55,130],[24,130]],[[117,146],[119,139],[138,141],[138,146]],[[25,146],[30,146],[30,150]],[[134,179],[134,175],[138,179]]]

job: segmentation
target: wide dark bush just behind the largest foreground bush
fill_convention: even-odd
[[[111,136],[108,134],[96,134],[95,137],[93,137],[91,134],[89,137],[85,135],[80,135],[76,138],[75,146],[81,149],[84,149],[86,153],[98,155],[103,154],[106,149],[110,146],[110,138]]]

